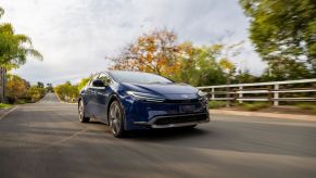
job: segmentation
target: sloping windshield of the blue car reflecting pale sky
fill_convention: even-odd
[[[118,82],[141,82],[141,84],[170,84],[172,80],[162,76],[140,72],[111,72],[114,80]]]

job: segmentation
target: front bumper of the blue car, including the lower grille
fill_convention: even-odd
[[[124,100],[125,129],[185,127],[210,122],[207,102]]]

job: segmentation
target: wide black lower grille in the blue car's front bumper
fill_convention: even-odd
[[[179,123],[190,123],[190,122],[202,122],[207,119],[207,114],[194,114],[194,115],[174,115],[164,116],[157,118],[155,125],[168,125],[168,124],[179,124]]]

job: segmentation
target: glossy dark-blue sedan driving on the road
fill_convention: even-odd
[[[155,74],[125,71],[96,74],[80,91],[78,113],[81,123],[93,117],[109,125],[115,137],[210,122],[204,92]]]

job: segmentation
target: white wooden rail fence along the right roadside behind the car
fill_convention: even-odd
[[[298,88],[296,86],[300,85],[303,85],[304,87]],[[211,101],[227,101],[228,105],[231,101],[238,101],[239,103],[242,103],[243,101],[270,101],[274,105],[279,105],[280,101],[316,101],[316,78],[273,82],[205,86],[198,88],[206,91]]]

